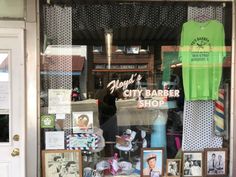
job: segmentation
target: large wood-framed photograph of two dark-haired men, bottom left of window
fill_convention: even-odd
[[[42,151],[43,177],[81,177],[82,156],[80,150]]]

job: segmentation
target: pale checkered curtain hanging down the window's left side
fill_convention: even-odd
[[[41,37],[47,37],[51,45],[62,46],[64,49],[72,47],[72,8],[58,5],[43,5],[41,17]],[[60,52],[60,51],[59,51]],[[62,54],[63,55],[63,54]],[[41,76],[45,92],[48,89],[72,89],[72,56],[51,56],[46,58],[47,71],[50,74]],[[41,109],[47,113],[47,109]],[[66,115],[64,130],[66,135],[71,133],[70,115]]]

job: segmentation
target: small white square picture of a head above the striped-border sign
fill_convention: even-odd
[[[93,112],[73,112],[73,133],[93,133]]]

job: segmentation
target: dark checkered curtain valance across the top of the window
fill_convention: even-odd
[[[113,4],[80,5],[72,8],[73,30],[99,30],[120,27],[161,26],[176,28],[186,21],[183,5]]]

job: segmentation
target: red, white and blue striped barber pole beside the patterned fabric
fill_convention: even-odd
[[[224,115],[224,89],[219,90],[219,98],[215,102],[215,134],[217,136],[222,136],[225,130],[225,115]]]

